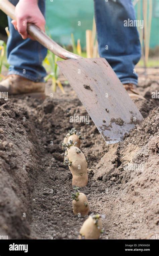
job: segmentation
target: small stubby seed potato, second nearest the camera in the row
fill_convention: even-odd
[[[84,193],[76,193],[75,199],[72,201],[73,213],[78,215],[79,213],[82,216],[88,215],[89,212],[89,202]],[[79,194],[79,195],[78,195]]]

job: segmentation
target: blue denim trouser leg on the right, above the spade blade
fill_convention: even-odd
[[[134,67],[141,58],[139,33],[137,27],[124,27],[124,20],[136,20],[131,0],[94,0],[94,3],[100,57],[108,61],[123,84],[137,85]]]

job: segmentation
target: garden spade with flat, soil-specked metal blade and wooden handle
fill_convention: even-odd
[[[15,7],[7,0],[0,0],[0,9],[16,19]],[[70,53],[33,24],[28,24],[27,30],[35,40],[64,59],[57,62],[60,70],[107,143],[122,141],[124,134],[143,119],[104,58],[86,59]]]

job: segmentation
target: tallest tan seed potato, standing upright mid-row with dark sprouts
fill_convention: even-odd
[[[68,159],[71,162],[69,169],[72,173],[72,185],[86,187],[88,183],[88,172],[85,155],[75,146],[71,146],[67,152]]]

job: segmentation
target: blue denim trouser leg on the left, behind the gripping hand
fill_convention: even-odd
[[[10,0],[14,5],[18,0]],[[45,14],[45,0],[39,0],[39,8]],[[47,49],[37,41],[29,38],[23,40],[11,24],[8,17],[10,36],[7,42],[7,57],[9,74],[17,74],[35,82],[42,82],[46,76],[45,68],[42,66]]]

